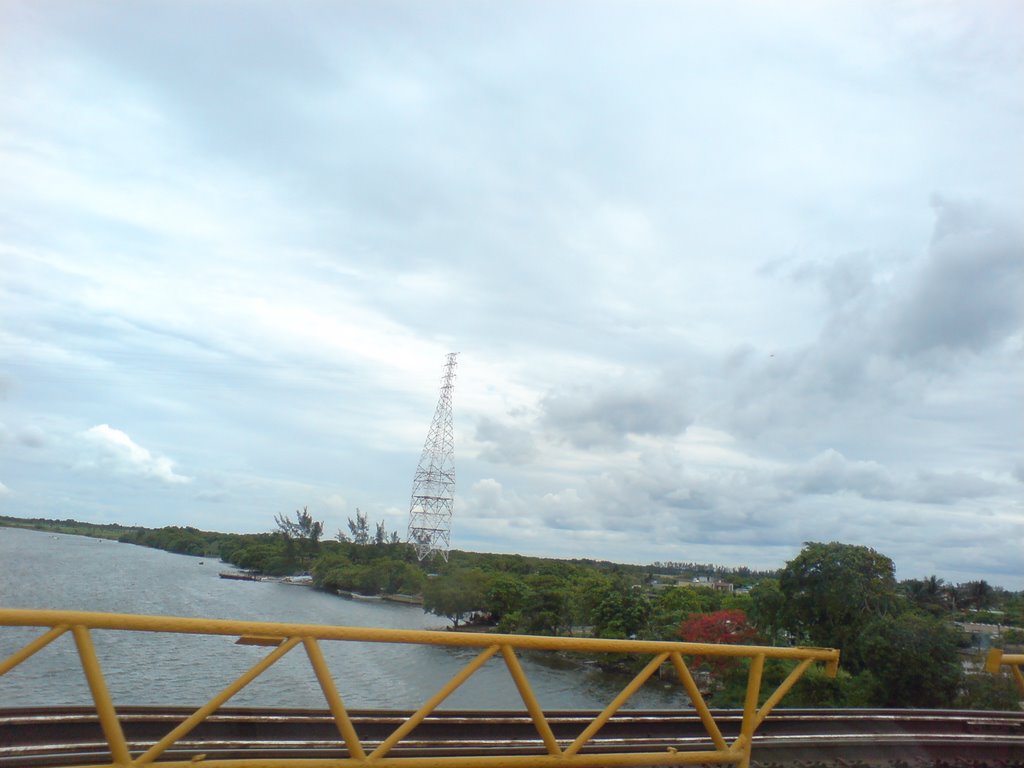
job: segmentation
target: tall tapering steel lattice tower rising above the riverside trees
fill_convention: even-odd
[[[452,505],[455,501],[455,434],[452,426],[452,389],[458,352],[450,352],[441,376],[437,410],[423,443],[420,464],[413,477],[409,505],[409,543],[420,560],[439,554],[447,562],[452,540]]]

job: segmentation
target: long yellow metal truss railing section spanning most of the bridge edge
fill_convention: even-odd
[[[0,609],[0,627],[48,628],[46,632],[0,662],[0,676],[17,667],[37,651],[61,635],[71,633],[74,638],[82,669],[85,673],[96,714],[110,746],[113,767],[141,767],[158,761],[178,739],[202,723],[209,715],[231,696],[255,680],[276,660],[296,646],[306,651],[309,663],[324,692],[340,736],[338,757],[331,760],[203,760],[208,768],[435,768],[439,766],[474,766],[479,768],[584,768],[586,766],[654,766],[718,763],[748,768],[751,762],[752,739],[755,731],[801,678],[815,663],[823,663],[828,675],[835,675],[839,665],[839,651],[826,648],[771,648],[754,645],[717,645],[708,643],[657,642],[643,640],[600,640],[571,637],[534,637],[523,635],[489,635],[480,633],[430,632],[423,630],[385,630],[364,627],[324,627],[303,624],[272,624],[257,622],[215,621],[206,618],[178,618],[170,616],[143,616],[124,613],[89,613],[84,611]],[[125,739],[117,710],[111,698],[92,642],[93,630],[127,632],[162,632],[189,635],[225,635],[240,638],[240,642],[272,646],[271,650],[252,669],[200,707],[193,715],[173,728],[167,735],[147,749],[137,750],[134,756]],[[480,648],[480,653],[445,683],[419,710],[410,716],[394,732],[380,743],[364,743],[335,685],[321,650],[321,641],[360,641],[375,643],[415,643],[422,645],[461,646]],[[526,674],[519,664],[516,650],[555,650],[582,653],[629,653],[649,655],[650,663],[612,699],[612,701],[571,741],[561,743],[555,738],[544,710],[530,688]],[[510,755],[505,757],[446,757],[414,758],[389,756],[403,737],[424,721],[449,695],[468,680],[488,659],[500,655],[529,713],[534,726],[547,751],[546,755]],[[739,735],[731,743],[723,737],[715,718],[705,702],[697,684],[686,666],[684,656],[729,656],[750,658],[746,696]],[[765,659],[792,659],[797,664],[788,677],[761,703],[761,678]],[[665,664],[670,664],[689,695],[694,710],[700,717],[711,745],[714,749],[682,751],[668,748],[665,752],[608,754],[584,753],[588,741],[601,727],[639,690]],[[371,749],[372,748],[372,749]],[[161,761],[162,767],[194,767],[193,761]]]

